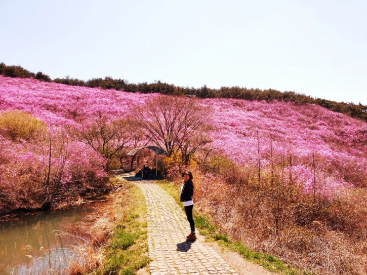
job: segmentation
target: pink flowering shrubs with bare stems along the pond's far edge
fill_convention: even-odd
[[[61,201],[78,199],[86,187],[106,183],[101,156],[68,140],[62,129],[54,129],[50,137],[21,143],[0,141],[1,212],[57,207]]]

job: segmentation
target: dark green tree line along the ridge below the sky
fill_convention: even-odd
[[[200,98],[237,98],[245,100],[283,100],[285,102],[291,101],[296,104],[311,103],[325,107],[328,110],[345,114],[352,118],[360,118],[367,121],[367,105],[361,103],[345,103],[335,102],[331,100],[313,98],[303,94],[298,94],[291,91],[281,92],[274,89],[254,89],[245,88],[239,86],[221,87],[219,89],[211,89],[204,85],[201,88],[189,88],[179,87],[173,84],[157,81],[154,83],[129,83],[124,79],[113,79],[111,77],[105,77],[104,79],[89,79],[87,81],[80,79],[73,79],[66,77],[64,79],[51,79],[48,75],[38,72],[32,73],[21,66],[7,66],[4,63],[0,63],[0,75],[11,78],[33,78],[46,82],[56,82],[73,86],[85,86],[85,87],[101,87],[103,89],[116,89],[124,90],[126,92],[141,92],[141,93],[161,93],[167,95],[186,95],[197,96]],[[346,91],[347,92],[347,91]]]

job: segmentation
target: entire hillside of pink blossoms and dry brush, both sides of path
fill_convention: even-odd
[[[75,132],[125,123],[157,96],[0,76],[0,123],[30,114],[46,125],[36,130],[48,129],[27,139],[0,127],[0,213],[104,188],[108,156]],[[198,208],[229,236],[300,268],[367,272],[367,122],[309,103],[194,100],[211,110],[210,154],[190,162]],[[123,123],[113,125],[138,131]],[[182,166],[173,168],[177,175]]]

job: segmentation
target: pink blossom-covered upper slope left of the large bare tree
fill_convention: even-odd
[[[129,105],[142,104],[149,96],[0,76],[0,110],[25,111],[48,125],[125,116]]]

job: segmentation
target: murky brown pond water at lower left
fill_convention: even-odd
[[[65,274],[71,261],[78,262],[75,245],[84,242],[74,227],[96,207],[98,202],[0,221],[0,275]]]

